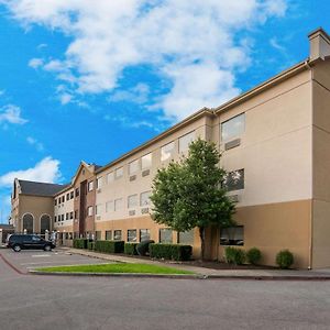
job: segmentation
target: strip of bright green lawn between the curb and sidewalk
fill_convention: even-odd
[[[139,273],[139,274],[195,274],[166,266],[147,264],[102,264],[102,265],[77,265],[35,268],[35,271],[48,273]]]

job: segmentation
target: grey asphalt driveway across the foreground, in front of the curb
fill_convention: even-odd
[[[330,328],[328,282],[20,275],[0,258],[0,293],[8,330]]]

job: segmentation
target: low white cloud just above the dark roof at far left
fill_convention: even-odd
[[[61,178],[59,161],[48,156],[35,164],[34,167],[9,172],[0,176],[0,187],[10,187],[15,178],[32,182],[55,183]]]

